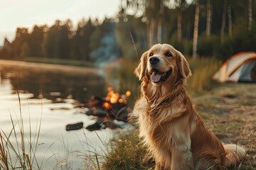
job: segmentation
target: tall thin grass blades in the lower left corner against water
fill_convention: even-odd
[[[25,136],[19,95],[18,101],[19,120],[14,123],[10,114],[11,132],[0,131],[0,169],[41,169],[41,164],[36,159],[41,121],[36,125],[34,135],[31,130],[31,121],[29,121],[29,135]]]

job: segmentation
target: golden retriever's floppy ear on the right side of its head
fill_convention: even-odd
[[[189,69],[188,62],[186,58],[181,54],[181,52],[177,52],[178,55],[178,72],[181,74],[181,79],[187,79],[190,77],[191,69]]]

